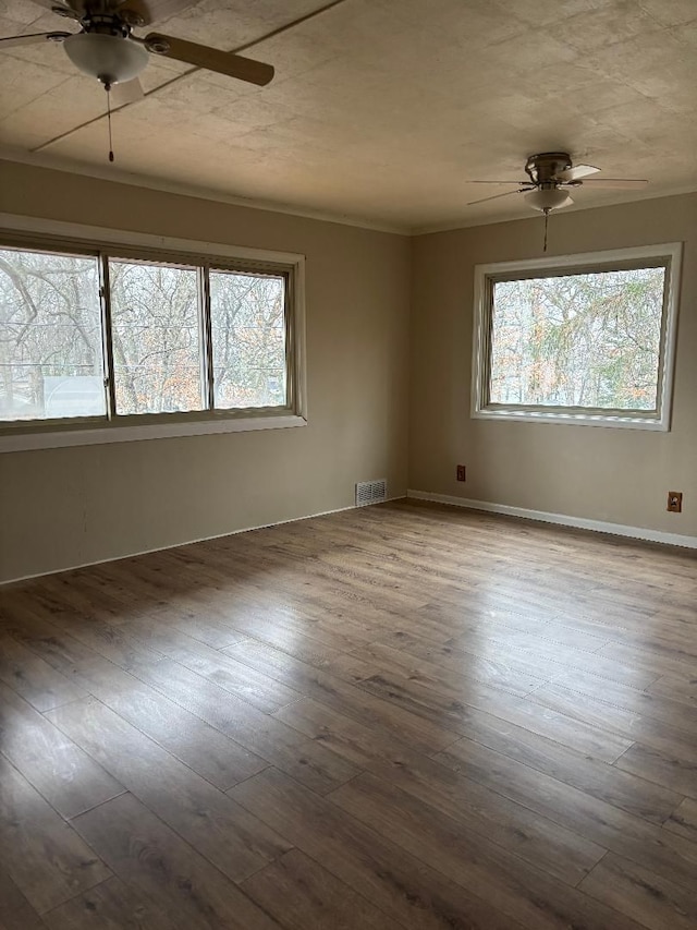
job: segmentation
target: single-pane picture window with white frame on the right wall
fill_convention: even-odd
[[[473,416],[668,430],[681,246],[475,268]]]

